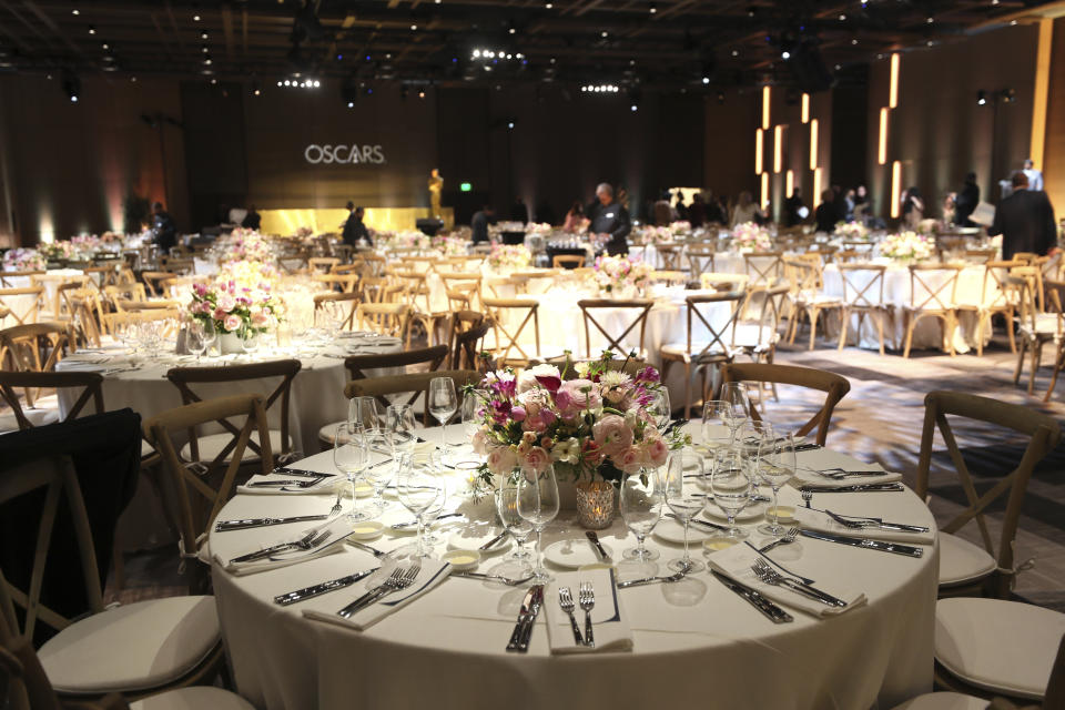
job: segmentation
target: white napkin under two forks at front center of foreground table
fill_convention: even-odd
[[[591,623],[595,631],[595,647],[578,646],[574,630],[561,607],[558,606],[559,587],[569,587],[572,592],[580,635],[585,635],[585,612],[579,605],[578,590],[581,581],[590,581],[596,592],[596,606],[591,609]],[[621,609],[618,587],[612,569],[590,569],[588,571],[558,572],[555,581],[544,589],[544,618],[547,620],[547,638],[551,653],[595,653],[596,651],[631,651],[632,629]]]

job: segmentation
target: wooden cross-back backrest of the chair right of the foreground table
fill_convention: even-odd
[[[983,495],[978,495],[972,474],[965,465],[965,459],[957,446],[954,430],[947,420],[947,415],[965,417],[975,422],[993,424],[1030,437],[1028,445],[1017,467],[1007,475],[998,477],[994,486]],[[962,392],[930,392],[924,397],[924,429],[921,435],[921,455],[917,459],[916,493],[924,498],[929,494],[932,469],[932,447],[935,429],[940,429],[947,454],[954,464],[955,473],[965,493],[968,506],[958,513],[950,523],[940,527],[944,532],[955,532],[970,520],[975,519],[980,528],[981,540],[987,552],[996,558],[997,569],[993,574],[993,592],[1000,597],[1010,595],[1011,584],[1016,576],[1014,568],[1014,538],[1017,523],[1021,518],[1021,507],[1032,471],[1049,452],[1057,447],[1062,439],[1062,429],[1051,416],[1034,410],[1030,406],[1007,404],[990,397],[982,397]],[[995,554],[991,532],[984,519],[984,510],[1000,496],[1008,491],[1006,513],[1002,519],[1002,532],[998,538],[998,552]]]

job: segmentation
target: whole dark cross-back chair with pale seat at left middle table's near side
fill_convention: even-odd
[[[266,394],[263,400],[263,410],[267,412],[274,404],[278,405],[278,426],[277,429],[270,429],[270,440],[264,442],[260,438],[261,433],[252,435],[252,440],[244,450],[244,460],[254,462],[258,457],[265,456],[268,465],[271,453],[277,453],[280,456],[286,456],[292,450],[292,437],[288,435],[288,399],[292,392],[292,381],[300,373],[302,367],[297,359],[280,359],[267,363],[253,363],[250,365],[227,365],[225,367],[174,367],[166,373],[169,379],[178,392],[181,393],[183,404],[195,404],[204,402],[204,398],[197,394],[191,385],[206,385],[205,390],[212,386],[223,383],[243,382],[254,386],[258,384]],[[280,378],[272,389],[267,383],[256,383],[256,381]],[[199,462],[207,459],[212,465],[230,462],[234,455],[235,436],[240,428],[224,417],[217,418],[217,424],[224,429],[220,434],[207,434],[197,436],[192,428],[189,429],[189,443],[181,449],[181,455],[185,460]],[[158,447],[156,447],[158,448]],[[160,452],[162,453],[162,452]]]

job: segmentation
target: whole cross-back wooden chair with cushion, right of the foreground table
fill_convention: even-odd
[[[1030,437],[1017,467],[1005,476],[996,477],[995,485],[983,495],[976,491],[973,477],[947,422],[947,415],[983,422]],[[1053,417],[1031,407],[961,392],[929,393],[924,398],[924,429],[915,488],[922,499],[929,495],[931,485],[932,447],[936,427],[946,444],[968,504],[950,523],[940,526],[940,594],[956,596],[983,591],[1005,599],[1010,596],[1013,579],[1017,574],[1014,538],[1028,479],[1036,464],[1057,447],[1062,438],[1061,426]],[[996,554],[984,519],[984,510],[1004,494],[1008,496]],[[976,521],[983,549],[953,535],[970,520]]]

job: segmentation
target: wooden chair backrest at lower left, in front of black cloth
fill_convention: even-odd
[[[73,463],[68,456],[43,455],[30,459],[21,465],[12,466],[0,473],[0,504],[6,504],[23,496],[43,495],[41,518],[37,528],[37,542],[33,549],[33,562],[30,577],[23,588],[16,588],[14,582],[0,578],[0,605],[7,611],[8,618],[11,607],[22,610],[22,626],[13,615],[8,618],[14,635],[30,640],[38,621],[55,629],[67,628],[72,620],[41,604],[41,592],[44,581],[44,569],[52,561],[49,556],[49,546],[55,530],[55,521],[60,515],[60,501],[65,499],[70,513],[71,529],[73,531],[80,557],[81,574],[85,584],[85,600],[89,611],[103,610],[103,594],[100,588],[100,576],[97,566],[97,554],[92,544],[92,530],[89,527],[89,515],[85,511],[81,486],[74,471]],[[67,561],[67,560],[63,560]],[[3,570],[0,570],[2,572]],[[8,572],[7,577],[11,577]]]

